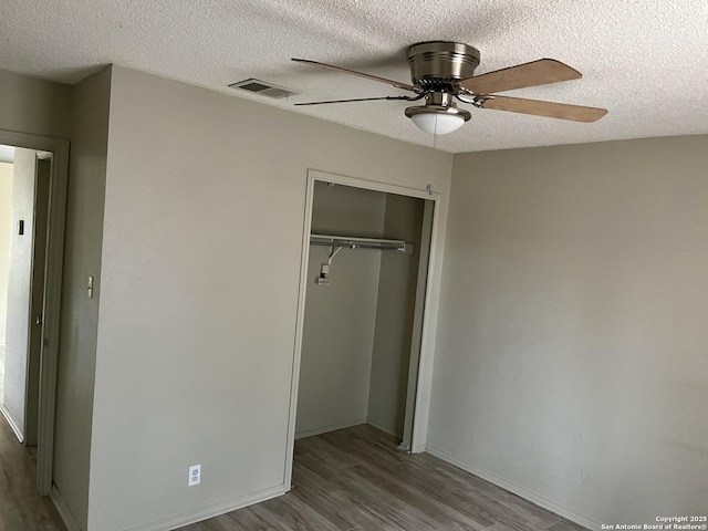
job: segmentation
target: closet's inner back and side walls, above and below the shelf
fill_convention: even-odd
[[[424,200],[315,183],[312,232],[404,239],[414,253],[310,247],[295,437],[369,423],[403,434]]]

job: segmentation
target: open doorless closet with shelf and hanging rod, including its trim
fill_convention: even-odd
[[[438,197],[313,171],[309,185],[290,435],[420,451],[414,428]]]

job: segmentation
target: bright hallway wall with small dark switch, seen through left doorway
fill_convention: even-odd
[[[12,214],[10,227],[10,267],[4,352],[6,415],[12,418],[24,438],[28,384],[28,337],[30,324],[30,290],[32,283],[32,232],[34,230],[34,165],[31,149],[14,150],[12,178]],[[18,233],[18,222],[24,221],[24,233]],[[37,389],[35,389],[37,391]]]

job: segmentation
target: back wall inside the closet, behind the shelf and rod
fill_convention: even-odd
[[[315,183],[312,232],[381,238],[386,195]],[[314,282],[329,247],[310,247],[298,436],[366,421],[382,252],[342,249],[331,283]]]

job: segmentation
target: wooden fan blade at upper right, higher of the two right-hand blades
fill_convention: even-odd
[[[580,80],[583,76],[575,69],[554,59],[540,59],[531,63],[509,66],[487,74],[476,75],[460,83],[460,86],[475,94],[524,88],[545,85],[559,81]]]

